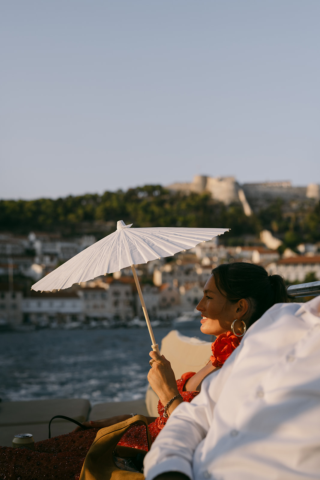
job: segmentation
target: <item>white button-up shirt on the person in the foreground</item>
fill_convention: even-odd
[[[144,460],[146,480],[320,479],[320,297],[273,305]]]

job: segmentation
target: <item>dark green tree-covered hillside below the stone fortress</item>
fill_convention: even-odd
[[[59,232],[64,237],[94,234],[98,239],[115,229],[118,220],[134,227],[231,228],[223,241],[243,244],[244,236],[268,229],[295,248],[320,240],[320,205],[306,200],[287,204],[282,199],[246,216],[240,203],[225,206],[209,194],[170,192],[161,185],[145,185],[127,192],[86,194],[56,200],[0,200],[0,231]]]

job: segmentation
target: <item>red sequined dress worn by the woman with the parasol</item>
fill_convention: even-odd
[[[182,391],[192,375],[194,372],[187,372],[177,380],[178,390],[185,402],[190,402],[199,393]],[[160,416],[149,425],[152,441],[166,424],[160,402],[158,412]],[[98,430],[71,432],[36,442],[35,452],[0,446],[0,480],[78,480],[84,458]],[[147,450],[145,428],[132,425],[119,444]]]

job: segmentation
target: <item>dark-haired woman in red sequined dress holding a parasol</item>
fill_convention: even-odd
[[[274,303],[287,302],[282,277],[268,276],[255,264],[222,264],[214,268],[207,280],[197,309],[201,312],[201,332],[216,336],[213,355],[199,372],[187,372],[176,381],[170,362],[150,352],[148,380],[159,396],[157,418],[148,418],[152,441],[166,424],[170,413],[182,401],[198,395],[202,380],[219,369],[237,348],[241,337]],[[76,431],[36,443],[36,451],[0,447],[0,479],[19,477],[78,479],[84,457],[95,439],[97,429],[130,418],[119,415],[110,419],[83,422],[89,430]],[[132,425],[120,445],[147,450],[145,428]],[[20,450],[20,451],[19,451]]]

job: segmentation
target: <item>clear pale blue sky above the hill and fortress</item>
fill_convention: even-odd
[[[0,198],[320,182],[319,0],[10,0]]]

